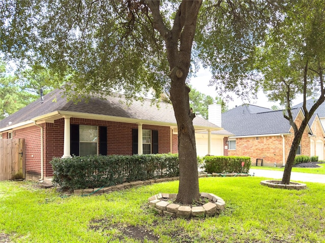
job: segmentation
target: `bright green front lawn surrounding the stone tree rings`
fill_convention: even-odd
[[[0,182],[0,237],[11,242],[325,242],[324,184],[308,183],[308,189],[297,191],[259,185],[263,179],[201,178],[200,191],[222,197],[226,208],[218,216],[190,220],[159,216],[146,207],[154,194],[177,193],[178,181],[85,197],[60,195],[32,182]]]

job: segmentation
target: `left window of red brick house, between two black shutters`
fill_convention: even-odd
[[[80,156],[97,154],[98,129],[95,126],[79,126],[79,154]]]

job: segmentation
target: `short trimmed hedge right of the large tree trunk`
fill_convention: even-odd
[[[243,173],[248,173],[250,157],[239,156],[205,156],[205,170],[208,173],[241,173],[242,161],[245,162]]]

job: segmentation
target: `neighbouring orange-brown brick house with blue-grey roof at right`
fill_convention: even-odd
[[[293,108],[296,124],[304,118],[302,109]],[[222,113],[222,127],[235,134],[229,138],[229,155],[249,156],[252,165],[263,159],[263,166],[284,166],[294,131],[283,117],[283,110],[244,104]],[[324,130],[315,114],[306,127],[297,154],[324,158]],[[313,145],[314,144],[314,145]],[[314,146],[314,150],[311,148]],[[258,160],[258,165],[261,165]]]

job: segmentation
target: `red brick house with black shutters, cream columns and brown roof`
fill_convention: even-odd
[[[178,152],[177,124],[171,104],[160,102],[158,108],[149,99],[134,101],[129,106],[121,101],[123,95],[117,94],[75,104],[55,90],[44,96],[43,102],[39,99],[1,120],[0,138],[25,139],[27,179],[52,176],[49,161],[53,157]],[[223,146],[215,146],[220,139],[228,138],[228,132],[222,135],[222,128],[201,117],[193,119],[193,126],[196,133],[211,135],[204,139],[205,147],[199,142],[199,155],[223,155]],[[213,134],[215,131],[218,134]]]

